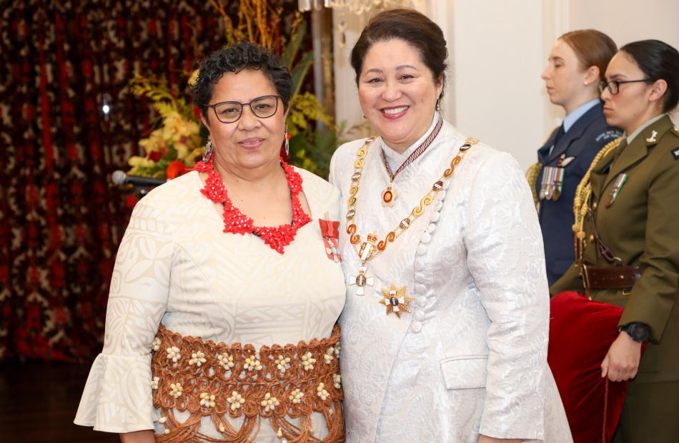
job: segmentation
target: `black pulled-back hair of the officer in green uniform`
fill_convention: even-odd
[[[651,82],[662,78],[668,83],[663,101],[663,112],[672,111],[679,103],[679,51],[660,40],[641,40],[628,43],[625,52],[637,63]]]

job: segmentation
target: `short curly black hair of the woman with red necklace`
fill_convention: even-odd
[[[207,105],[212,100],[214,85],[224,73],[239,73],[243,69],[261,69],[269,81],[273,83],[281,97],[284,109],[292,97],[292,75],[279,58],[252,41],[237,41],[232,46],[214,51],[200,64],[198,78],[191,86],[194,105],[207,118]]]

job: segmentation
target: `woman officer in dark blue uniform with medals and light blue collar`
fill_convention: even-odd
[[[528,172],[550,285],[573,263],[575,188],[600,149],[622,136],[622,131],[606,123],[598,92],[616,51],[615,43],[599,31],[571,31],[557,39],[542,72],[550,101],[566,113]]]

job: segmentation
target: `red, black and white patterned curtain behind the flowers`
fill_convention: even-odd
[[[128,81],[183,93],[224,42],[207,0],[0,0],[0,360],[99,352],[130,212],[109,174],[151,130]]]

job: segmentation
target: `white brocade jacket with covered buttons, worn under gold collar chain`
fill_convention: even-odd
[[[340,146],[331,163],[330,181],[342,193],[347,282],[355,282],[361,264],[346,232],[346,202],[363,142]],[[397,200],[385,207],[389,177],[377,138],[357,193],[361,241],[394,230],[462,143],[465,136],[444,122],[430,148],[397,175]],[[392,170],[412,151],[400,156],[384,149]],[[372,287],[360,296],[347,286],[340,317],[348,443],[477,443],[480,434],[573,441],[547,366],[540,226],[530,188],[509,154],[473,146],[422,216],[367,262],[366,275],[374,278]],[[382,289],[392,284],[413,297],[411,312],[400,319],[380,304]]]

